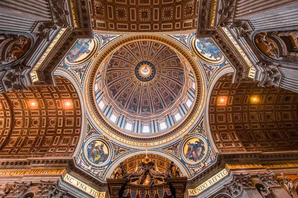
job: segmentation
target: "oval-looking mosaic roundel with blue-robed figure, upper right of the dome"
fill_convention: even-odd
[[[195,48],[211,61],[219,61],[223,58],[220,49],[208,38],[195,39]]]

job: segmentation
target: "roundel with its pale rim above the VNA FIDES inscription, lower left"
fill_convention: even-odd
[[[111,156],[107,143],[101,139],[91,139],[84,147],[86,159],[95,166],[105,165]]]

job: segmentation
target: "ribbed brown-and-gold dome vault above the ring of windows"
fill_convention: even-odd
[[[151,116],[169,109],[182,94],[186,73],[176,52],[139,41],[112,55],[106,69],[109,96],[130,114]]]

